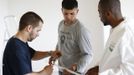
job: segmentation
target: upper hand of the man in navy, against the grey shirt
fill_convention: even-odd
[[[61,52],[56,50],[53,51],[51,54],[51,57],[49,59],[49,64],[54,64],[54,62],[56,61],[56,59],[58,59],[61,56]]]

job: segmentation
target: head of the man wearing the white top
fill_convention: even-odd
[[[123,20],[119,0],[100,0],[98,11],[104,26],[112,25],[114,27]]]

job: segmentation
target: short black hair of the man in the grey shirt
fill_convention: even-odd
[[[78,2],[77,0],[63,0],[62,8],[69,9],[69,10],[73,8],[78,8]]]

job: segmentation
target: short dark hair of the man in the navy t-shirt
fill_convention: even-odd
[[[35,12],[29,11],[22,15],[19,22],[19,31],[23,30],[26,26],[32,25],[33,27],[37,27],[39,22],[43,23],[43,20],[39,15]]]

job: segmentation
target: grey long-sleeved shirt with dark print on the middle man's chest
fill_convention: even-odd
[[[76,20],[72,25],[65,25],[64,20],[58,28],[57,49],[61,51],[59,65],[70,68],[77,64],[77,71],[84,73],[92,60],[92,48],[89,31]]]

